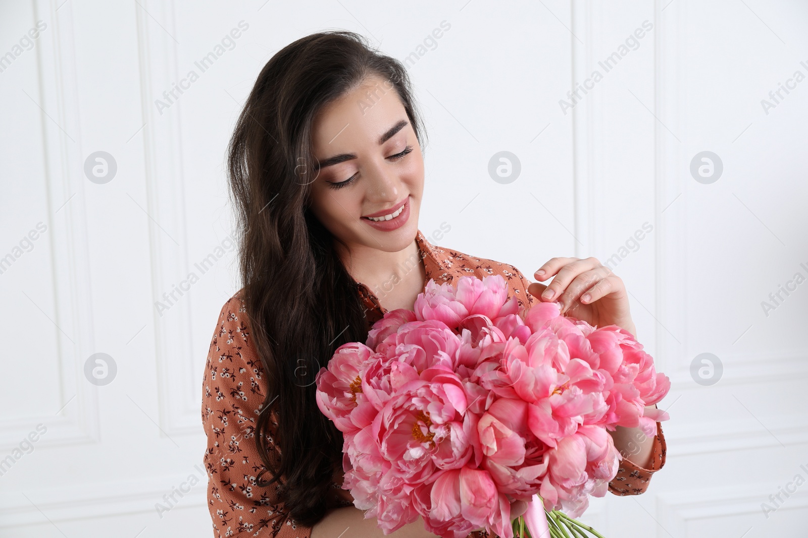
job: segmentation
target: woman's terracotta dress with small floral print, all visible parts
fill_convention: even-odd
[[[502,275],[508,282],[508,297],[516,296],[520,307],[538,301],[528,293],[530,282],[513,265],[475,258],[462,252],[430,244],[418,231],[426,280],[453,282],[464,275],[478,278]],[[360,284],[360,295],[367,311],[368,328],[385,314],[377,297]],[[266,374],[253,348],[250,327],[239,290],[221,308],[213,333],[202,387],[202,422],[208,436],[204,465],[208,472],[208,510],[213,519],[213,536],[272,536],[309,538],[311,528],[295,522],[277,499],[276,486],[255,486],[255,477],[264,469],[255,449],[255,424],[266,394]],[[271,423],[277,427],[273,413]],[[650,469],[643,469],[624,458],[608,490],[618,495],[642,494],[651,476],[665,465],[665,437],[658,422],[658,435]],[[277,433],[268,432],[271,447]],[[276,448],[280,453],[280,450]],[[274,454],[270,450],[271,454]],[[273,464],[276,462],[273,461]],[[265,473],[266,476],[266,473]],[[330,508],[352,506],[351,494],[340,488],[343,469],[335,469]],[[486,538],[486,532],[473,532],[469,538]],[[492,535],[493,536],[493,535]]]

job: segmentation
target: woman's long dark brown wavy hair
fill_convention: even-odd
[[[253,344],[267,373],[255,431],[267,469],[256,483],[278,482],[280,500],[306,526],[326,514],[326,494],[335,468],[341,468],[343,448],[342,433],[317,406],[314,379],[336,348],[368,336],[356,282],[334,248],[339,239],[309,209],[315,170],[312,123],[322,106],[368,76],[395,88],[423,146],[423,124],[402,63],[353,32],[326,31],[272,56],[255,81],[228,148],[242,294]],[[280,457],[267,449],[271,410],[278,417],[274,442]],[[268,481],[262,479],[267,471],[272,475]]]

